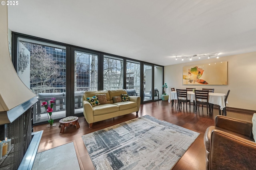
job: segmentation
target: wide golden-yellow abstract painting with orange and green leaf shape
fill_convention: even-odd
[[[183,67],[184,85],[227,85],[228,61]]]

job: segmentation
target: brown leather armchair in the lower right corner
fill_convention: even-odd
[[[256,168],[251,122],[218,115],[205,131],[204,145],[207,170]]]

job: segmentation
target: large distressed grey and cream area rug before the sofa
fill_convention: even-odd
[[[170,170],[198,135],[145,115],[82,139],[96,170]]]

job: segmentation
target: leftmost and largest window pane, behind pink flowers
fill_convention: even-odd
[[[17,73],[23,83],[38,95],[34,105],[34,123],[48,120],[43,101],[55,101],[53,119],[66,115],[66,48],[18,38]]]

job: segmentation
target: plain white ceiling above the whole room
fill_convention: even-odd
[[[22,0],[14,32],[159,65],[256,51],[256,0]],[[206,59],[207,57],[201,57]],[[198,57],[192,57],[195,61]]]

